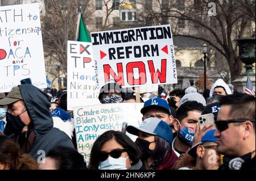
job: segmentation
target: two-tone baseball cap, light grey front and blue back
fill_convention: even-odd
[[[130,134],[134,134],[136,136],[139,136],[139,131],[142,131],[144,133],[157,135],[164,140],[166,140],[170,145],[172,145],[172,129],[170,126],[155,117],[149,117],[145,119],[139,127],[134,127],[132,125],[129,125],[126,128],[126,131]]]

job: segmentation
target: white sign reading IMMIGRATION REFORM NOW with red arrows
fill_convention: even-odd
[[[170,25],[93,32],[91,37],[103,81],[113,78],[123,87],[177,83]]]

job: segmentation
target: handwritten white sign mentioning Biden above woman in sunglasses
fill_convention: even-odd
[[[115,103],[96,106],[75,107],[74,122],[76,129],[77,150],[89,162],[90,150],[94,141],[109,130],[121,131],[123,122],[137,126],[142,123],[141,108],[143,103]],[[137,138],[126,134],[133,140]]]

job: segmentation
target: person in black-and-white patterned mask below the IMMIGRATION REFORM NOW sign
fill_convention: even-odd
[[[122,103],[125,99],[125,92],[114,80],[109,80],[101,87],[98,99],[102,104]]]

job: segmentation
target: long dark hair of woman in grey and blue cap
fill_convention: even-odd
[[[163,138],[156,135],[155,141],[156,141],[155,150],[153,151],[151,156],[151,158],[153,159],[153,163],[150,166],[151,169],[153,170],[155,170],[156,167],[158,167],[160,163],[164,161],[167,154],[170,153],[170,151],[172,151],[171,145]]]

